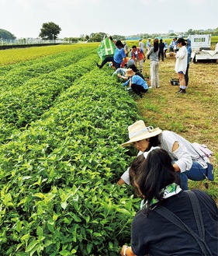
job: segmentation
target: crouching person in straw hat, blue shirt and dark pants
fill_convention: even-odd
[[[123,86],[129,85],[130,88],[133,89],[133,92],[137,93],[137,95],[140,97],[142,97],[141,93],[147,93],[147,82],[142,79],[140,75],[136,75],[132,68],[127,68],[125,76],[128,78],[128,80],[123,83]]]

